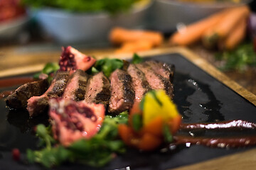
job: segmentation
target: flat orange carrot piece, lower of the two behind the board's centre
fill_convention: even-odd
[[[115,53],[129,53],[150,50],[154,47],[153,42],[149,40],[137,40],[134,42],[124,42],[122,46],[115,51]]]

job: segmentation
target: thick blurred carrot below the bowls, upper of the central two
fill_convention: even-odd
[[[124,28],[114,28],[110,32],[110,41],[114,44],[138,40],[151,41],[154,46],[158,46],[163,42],[163,35],[159,32],[149,30],[127,30]]]

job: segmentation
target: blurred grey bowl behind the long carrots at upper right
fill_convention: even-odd
[[[248,4],[250,0],[240,2],[218,1],[193,2],[178,0],[156,0],[151,8],[151,25],[155,30],[171,33],[179,23],[188,25],[217,11],[234,6]]]

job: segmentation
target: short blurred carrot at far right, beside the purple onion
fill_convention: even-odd
[[[233,50],[244,38],[246,33],[246,18],[243,18],[240,23],[229,33],[224,40],[223,48],[226,50]]]

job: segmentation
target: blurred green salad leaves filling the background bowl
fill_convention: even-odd
[[[26,6],[35,8],[53,7],[62,8],[66,11],[74,12],[100,12],[107,11],[109,13],[117,13],[119,11],[127,11],[137,0],[22,0]]]

